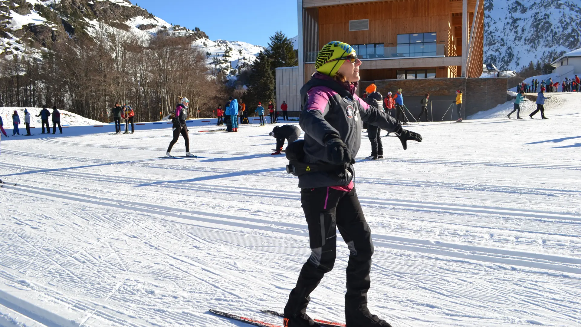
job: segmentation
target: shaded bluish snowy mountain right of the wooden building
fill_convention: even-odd
[[[484,62],[520,70],[581,48],[581,0],[485,0]]]

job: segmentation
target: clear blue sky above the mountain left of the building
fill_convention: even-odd
[[[297,35],[296,0],[131,0],[168,23],[199,27],[211,40],[268,44],[281,30]]]

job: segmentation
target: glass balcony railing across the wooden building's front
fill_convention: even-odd
[[[378,51],[379,50],[379,51]],[[381,51],[383,50],[383,51]],[[407,50],[407,51],[406,51]],[[404,52],[406,51],[406,52]],[[442,57],[446,56],[446,44],[436,44],[435,47],[421,48],[421,52],[408,52],[409,47],[384,47],[375,48],[372,54],[357,54],[357,58],[365,60],[382,60],[382,59],[405,59],[405,58],[423,58],[423,57]],[[381,53],[382,52],[382,53]],[[304,54],[305,63],[314,63],[317,59],[318,51],[306,52]]]

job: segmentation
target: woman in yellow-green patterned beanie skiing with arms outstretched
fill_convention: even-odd
[[[336,257],[336,228],[350,250],[347,265],[345,320],[348,327],[390,326],[367,308],[370,288],[371,230],[365,221],[353,183],[353,158],[361,145],[361,123],[371,123],[407,141],[422,137],[401,127],[378,107],[357,97],[359,66],[354,49],[333,41],[317,56],[317,72],[300,90],[300,126],[304,141],[289,145],[286,155],[307,166],[299,176],[301,203],[309,226],[311,256],[303,265],[284,310],[285,327],[318,326],[306,314],[310,293],[324,274],[331,271]],[[300,147],[297,147],[297,145]],[[289,165],[291,166],[291,165]],[[289,167],[287,167],[289,169]]]

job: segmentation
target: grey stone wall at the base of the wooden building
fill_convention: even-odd
[[[425,93],[430,94],[432,99],[429,119],[433,115],[433,120],[456,120],[456,105],[452,102],[456,99],[456,90],[462,90],[462,118],[466,118],[476,112],[492,109],[507,100],[508,79],[419,79],[419,80],[376,80],[363,81],[360,83],[359,92],[363,94],[365,88],[371,83],[375,83],[377,90],[385,97],[389,91],[396,93],[398,88],[402,89],[404,104],[406,105],[408,120],[414,122],[421,111],[419,101]],[[444,115],[445,113],[445,115]],[[424,121],[424,119],[422,119]]]

